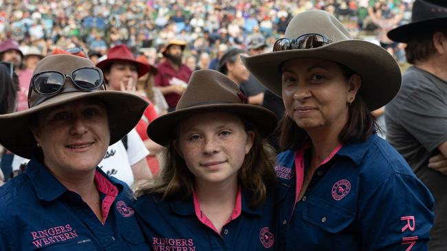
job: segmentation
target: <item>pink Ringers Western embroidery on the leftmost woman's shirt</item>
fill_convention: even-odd
[[[30,232],[30,235],[32,236],[32,244],[36,246],[36,248],[43,248],[52,243],[67,241],[78,237],[76,230],[73,230],[70,224]]]

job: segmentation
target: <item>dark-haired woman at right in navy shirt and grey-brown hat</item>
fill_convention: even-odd
[[[393,57],[311,10],[290,21],[272,52],[242,60],[286,110],[277,250],[426,250],[433,197],[370,113],[399,91]]]

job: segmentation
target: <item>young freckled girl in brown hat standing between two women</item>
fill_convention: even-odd
[[[174,112],[149,124],[167,147],[160,177],[135,192],[153,250],[273,250],[273,112],[237,84],[195,71]]]

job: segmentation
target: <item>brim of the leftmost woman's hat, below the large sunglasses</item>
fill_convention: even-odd
[[[38,150],[30,121],[38,112],[80,99],[99,99],[107,107],[110,128],[110,145],[126,135],[140,121],[148,105],[144,99],[120,91],[72,92],[56,95],[39,106],[21,112],[0,115],[0,144],[23,158],[32,158]]]

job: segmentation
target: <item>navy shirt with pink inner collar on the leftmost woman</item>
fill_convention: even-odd
[[[101,222],[80,195],[38,160],[0,187],[0,250],[149,250],[138,227],[132,192],[99,168]]]

